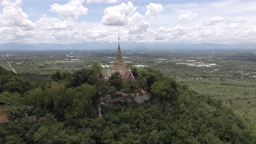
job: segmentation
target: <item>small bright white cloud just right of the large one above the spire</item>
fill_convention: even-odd
[[[147,11],[145,13],[146,18],[149,18],[150,20],[154,19],[154,17],[159,13],[164,11],[164,8],[162,4],[155,4],[155,3],[150,3],[149,5],[146,6]]]

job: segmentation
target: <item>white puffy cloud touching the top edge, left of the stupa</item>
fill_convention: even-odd
[[[82,6],[84,0],[71,0],[68,4],[51,5],[50,12],[57,12],[64,20],[77,20],[80,15],[88,14],[88,8]]]

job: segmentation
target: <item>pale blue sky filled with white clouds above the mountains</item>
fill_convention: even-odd
[[[0,0],[0,44],[256,43],[255,0]]]

